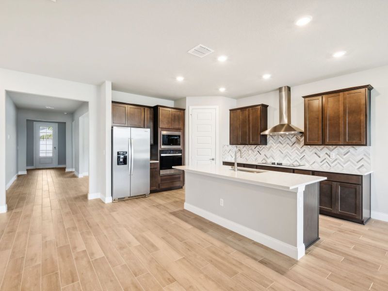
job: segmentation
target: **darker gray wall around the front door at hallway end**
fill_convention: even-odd
[[[34,166],[33,151],[34,151],[34,137],[33,137],[33,123],[45,122],[43,120],[30,120],[27,119],[26,124],[26,165],[27,167]],[[65,122],[51,122],[58,124],[58,165],[66,165],[66,123]]]

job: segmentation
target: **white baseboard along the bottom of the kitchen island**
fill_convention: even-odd
[[[184,204],[184,209],[189,210],[199,216],[202,216],[220,226],[224,226],[227,229],[233,230],[234,232],[237,232],[238,234],[241,234],[244,237],[254,240],[255,242],[264,244],[269,248],[272,248],[293,259],[300,259],[305,255],[305,245],[303,243],[298,247],[292,246],[291,244],[288,244],[286,242],[281,242],[259,231],[248,228],[246,226],[242,226],[238,223],[235,223],[231,220],[228,220],[226,218],[223,218],[221,216],[218,216],[214,213],[211,213],[207,210],[203,210],[201,208],[198,208],[186,202]]]

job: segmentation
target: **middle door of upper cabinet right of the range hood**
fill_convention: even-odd
[[[323,95],[325,145],[343,144],[343,93]]]

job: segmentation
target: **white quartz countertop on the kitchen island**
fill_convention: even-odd
[[[230,166],[176,166],[173,168],[210,177],[223,178],[283,190],[296,189],[326,179],[326,177],[265,170],[258,170],[261,173],[249,173],[242,171],[235,172],[231,170]]]

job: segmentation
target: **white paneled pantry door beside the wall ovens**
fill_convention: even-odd
[[[215,165],[216,164],[216,108],[191,109],[190,126],[190,164]]]

